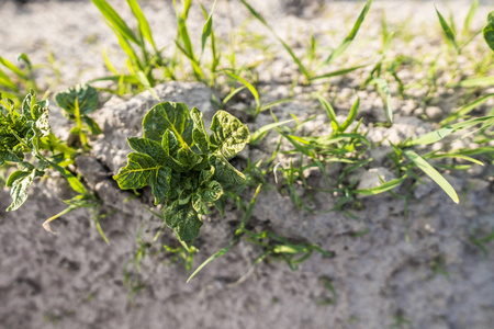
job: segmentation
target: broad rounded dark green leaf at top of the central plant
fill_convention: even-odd
[[[161,141],[165,131],[170,129],[181,144],[192,144],[193,122],[183,103],[164,102],[155,105],[144,116],[143,127],[145,138]]]

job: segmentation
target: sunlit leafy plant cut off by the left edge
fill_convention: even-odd
[[[67,180],[77,195],[65,201],[68,207],[48,218],[43,227],[53,232],[49,223],[54,219],[80,207],[91,207],[96,226],[108,243],[98,220],[100,201],[87,191],[85,185],[66,168],[75,157],[75,150],[63,144],[50,132],[48,101],[37,102],[34,91],[24,98],[20,111],[15,109],[11,100],[0,99],[0,164],[8,162],[19,167],[19,170],[12,172],[5,182],[12,196],[12,203],[7,212],[16,211],[22,206],[27,200],[27,189],[34,179],[44,177],[48,169],[53,168]],[[52,156],[47,155],[49,152]],[[31,157],[26,157],[25,154],[31,154]]]

